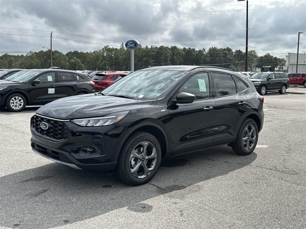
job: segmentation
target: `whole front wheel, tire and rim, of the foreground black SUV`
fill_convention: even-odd
[[[136,132],[122,147],[117,174],[126,184],[145,184],[155,176],[161,157],[162,150],[155,136],[147,132]]]

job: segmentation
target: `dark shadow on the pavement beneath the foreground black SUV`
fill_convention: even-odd
[[[252,166],[256,157],[255,152],[236,155],[227,146],[179,156],[162,161],[155,177],[137,187],[123,184],[115,175],[58,163],[20,171],[0,177],[0,226],[50,228],[123,207],[151,211],[151,205],[141,202],[185,188],[199,191],[200,185],[191,185]]]

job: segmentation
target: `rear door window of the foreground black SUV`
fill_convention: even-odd
[[[236,94],[236,85],[231,75],[213,73],[216,96],[226,96]]]

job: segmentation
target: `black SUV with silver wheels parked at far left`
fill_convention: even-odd
[[[23,70],[0,80],[0,108],[22,111],[26,105],[44,105],[58,98],[95,92],[84,74],[60,69]]]

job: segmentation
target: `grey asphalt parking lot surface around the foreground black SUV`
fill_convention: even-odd
[[[306,94],[264,97],[252,154],[224,146],[173,158],[138,187],[35,154],[37,107],[3,110],[0,228],[305,228]]]

